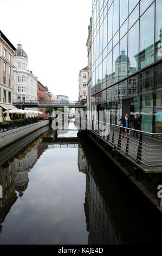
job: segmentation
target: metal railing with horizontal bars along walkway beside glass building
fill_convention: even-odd
[[[93,131],[114,149],[120,150],[137,162],[148,167],[162,166],[162,139],[156,138],[162,137],[162,133],[134,130],[98,120],[86,119],[81,124],[82,129]],[[123,135],[125,129],[128,130],[127,137]],[[139,133],[139,138],[133,137],[134,132]]]

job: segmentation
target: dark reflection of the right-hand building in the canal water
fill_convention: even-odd
[[[118,231],[113,227],[99,188],[93,179],[90,163],[82,148],[78,149],[78,166],[79,171],[86,174],[84,208],[89,232],[88,245],[119,244]]]

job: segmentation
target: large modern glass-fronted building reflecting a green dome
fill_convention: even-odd
[[[93,0],[93,108],[162,132],[162,1]]]

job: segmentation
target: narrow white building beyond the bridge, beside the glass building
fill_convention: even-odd
[[[88,96],[88,67],[80,70],[79,72],[79,100],[87,100]]]

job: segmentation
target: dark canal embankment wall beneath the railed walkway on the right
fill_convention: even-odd
[[[118,154],[113,146],[108,145],[101,138],[96,136],[93,132],[81,132],[86,141],[97,148],[101,154],[105,155],[108,161],[112,163],[124,174],[135,187],[144,194],[144,196],[162,212],[162,200],[157,197],[157,186],[161,180],[161,173],[146,174],[142,172],[142,167],[139,163],[129,159],[124,154]],[[79,135],[80,136],[80,135]]]

